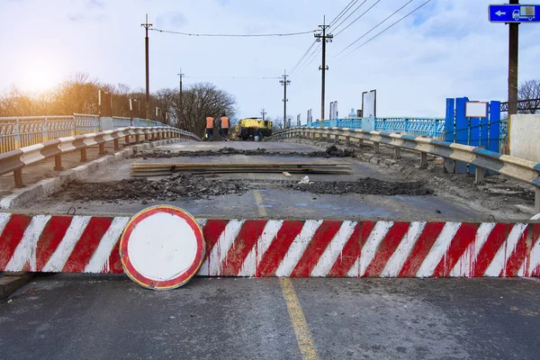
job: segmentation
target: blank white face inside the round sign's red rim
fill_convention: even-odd
[[[184,219],[157,212],[133,229],[128,253],[140,275],[157,281],[171,280],[193,264],[197,238]]]

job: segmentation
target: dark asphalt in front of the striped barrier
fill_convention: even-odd
[[[41,275],[0,302],[0,358],[537,359],[539,313],[530,279]]]

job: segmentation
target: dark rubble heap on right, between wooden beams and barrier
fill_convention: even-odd
[[[311,193],[362,193],[370,195],[431,195],[433,191],[421,182],[414,183],[389,183],[371,177],[358,181],[347,182],[320,182],[310,184],[290,184],[294,190]]]

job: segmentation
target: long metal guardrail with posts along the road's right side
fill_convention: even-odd
[[[488,169],[507,175],[514,179],[535,186],[535,210],[540,212],[540,163],[535,163],[519,157],[510,157],[498,152],[462,144],[455,144],[437,139],[427,139],[411,135],[401,135],[383,131],[364,131],[342,128],[294,128],[276,132],[270,138],[302,137],[313,139],[316,137],[334,139],[345,138],[364,140],[374,143],[375,153],[379,152],[379,145],[394,147],[394,157],[400,158],[401,149],[418,151],[420,153],[420,167],[428,166],[428,154],[437,157],[451,158],[457,161],[476,166],[475,183],[483,183],[484,170]]]

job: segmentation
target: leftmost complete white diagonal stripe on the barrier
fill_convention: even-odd
[[[50,220],[50,215],[36,215],[24,230],[21,242],[15,247],[14,255],[5,266],[5,271],[23,271],[30,262],[30,270],[36,271],[36,247],[43,229]]]

